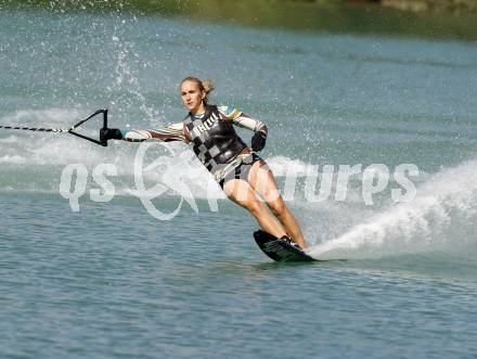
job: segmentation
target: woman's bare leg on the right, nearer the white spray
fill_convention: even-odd
[[[248,181],[252,188],[265,200],[286,233],[302,248],[306,248],[307,244],[298,222],[283,201],[272,171],[267,166],[263,166],[261,162],[256,162],[250,168]]]

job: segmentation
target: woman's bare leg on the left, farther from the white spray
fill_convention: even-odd
[[[248,182],[241,179],[230,180],[223,185],[223,192],[230,200],[250,211],[263,231],[276,238],[286,234],[283,227],[269,213],[260,198],[257,197],[255,190]]]

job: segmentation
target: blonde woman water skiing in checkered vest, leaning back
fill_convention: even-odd
[[[210,81],[188,77],[180,84],[182,103],[189,110],[181,123],[154,130],[103,129],[101,140],[182,141],[191,144],[197,158],[230,200],[246,208],[265,231],[305,248],[301,230],[280,195],[272,171],[256,154],[266,145],[267,126],[236,108],[209,105],[207,100],[212,90]],[[252,148],[242,141],[232,125],[255,132]]]

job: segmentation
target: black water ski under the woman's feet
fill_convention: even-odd
[[[276,261],[313,261],[317,260],[307,255],[302,249],[292,246],[289,243],[258,230],[254,232],[255,242],[260,249]]]

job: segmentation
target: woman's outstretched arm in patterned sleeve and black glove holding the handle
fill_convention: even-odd
[[[101,140],[125,140],[129,142],[144,142],[144,141],[182,141],[190,142],[184,132],[183,123],[173,124],[166,127],[146,130],[128,130],[118,128],[108,128],[100,131]]]

